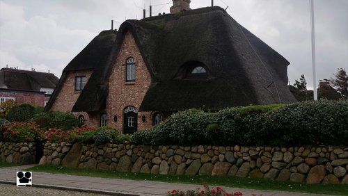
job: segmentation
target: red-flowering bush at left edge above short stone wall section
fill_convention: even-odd
[[[1,136],[6,142],[34,142],[42,140],[43,135],[35,122],[10,122],[1,127]]]

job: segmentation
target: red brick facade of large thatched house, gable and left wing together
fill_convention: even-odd
[[[136,79],[132,82],[126,81],[126,61],[134,58],[136,64]],[[75,90],[75,77],[86,76],[88,81],[92,71],[69,72],[63,86],[52,105],[52,111],[72,111],[72,107],[79,98],[81,91]],[[106,125],[115,127],[123,132],[123,115],[127,106],[139,109],[148,88],[150,87],[151,76],[145,66],[139,47],[128,32],[122,42],[120,52],[116,57],[109,77],[109,95],[106,97],[106,108],[104,111],[93,113],[74,113],[77,117],[84,115],[85,124],[89,126],[100,126],[100,117],[106,114]],[[93,104],[93,103],[90,103]],[[137,118],[137,130],[143,130],[152,126],[152,115],[154,112],[139,112]],[[143,119],[145,116],[145,122]],[[116,120],[116,122],[115,122]]]

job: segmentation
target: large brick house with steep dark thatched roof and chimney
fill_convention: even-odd
[[[102,31],[65,67],[45,109],[134,133],[189,108],[296,101],[283,56],[223,8],[189,2]]]

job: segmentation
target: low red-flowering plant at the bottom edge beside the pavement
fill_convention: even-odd
[[[220,186],[216,186],[215,188],[210,189],[207,184],[204,184],[204,190],[200,190],[197,188],[196,190],[187,190],[186,192],[183,190],[171,190],[168,191],[168,196],[235,196],[235,195],[243,195],[240,191],[235,193],[227,193]]]

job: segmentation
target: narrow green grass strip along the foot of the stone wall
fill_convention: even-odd
[[[31,172],[50,172],[59,174],[72,174],[89,177],[104,177],[116,179],[132,179],[142,181],[164,181],[169,183],[207,183],[209,186],[226,186],[235,188],[251,188],[259,190],[281,190],[300,193],[316,193],[327,195],[348,195],[348,185],[335,184],[304,184],[290,181],[274,181],[271,179],[250,179],[238,177],[212,177],[212,176],[184,176],[143,174],[132,172],[111,172],[102,170],[86,170],[78,168],[63,168],[54,165],[38,165],[28,169]]]

